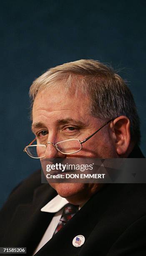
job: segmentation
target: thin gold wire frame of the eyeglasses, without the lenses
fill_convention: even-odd
[[[53,145],[53,146],[55,147],[55,149],[56,149],[57,151],[59,151],[61,154],[65,154],[65,155],[75,154],[75,153],[81,151],[81,149],[82,149],[82,144],[83,144],[83,143],[85,143],[86,141],[88,141],[93,135],[95,135],[95,134],[96,134],[98,131],[100,131],[105,125],[107,125],[108,123],[110,123],[110,122],[113,121],[113,120],[115,120],[115,118],[112,118],[111,120],[108,120],[108,121],[107,121],[104,125],[102,125],[97,131],[95,131],[94,133],[92,133],[90,136],[88,136],[87,138],[85,138],[83,141],[80,141],[79,139],[76,139],[76,138],[72,138],[72,139],[65,140],[65,141],[78,140],[78,141],[80,142],[81,148],[80,148],[78,151],[76,151],[76,152],[73,152],[73,153],[63,153],[63,152],[61,152],[61,151],[58,149],[58,147],[57,147],[56,145],[57,145],[58,143],[60,143],[60,142],[65,142],[65,141],[58,141],[58,142],[55,143],[55,144],[52,143],[52,142],[50,142],[50,141],[48,141],[45,145],[43,145],[43,144],[42,144],[42,145],[40,145],[40,144],[32,145],[32,143],[37,140],[36,137],[35,137],[35,139],[34,139],[33,141],[31,141],[31,142],[28,144],[28,146],[25,146],[23,152],[26,152],[26,153],[28,154],[26,148],[28,148],[29,146],[45,146],[45,148],[47,148],[47,145],[48,145],[48,144],[51,144],[51,145]],[[30,155],[28,154],[28,156],[30,156]],[[41,157],[33,157],[33,156],[30,156],[30,157],[35,158],[35,159],[40,159],[40,158],[44,158],[45,156],[41,156]]]

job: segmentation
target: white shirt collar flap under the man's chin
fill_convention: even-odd
[[[41,208],[42,212],[58,212],[61,208],[63,208],[66,204],[68,204],[68,201],[60,197],[60,195],[57,195],[54,197],[50,202],[48,202],[43,208]]]

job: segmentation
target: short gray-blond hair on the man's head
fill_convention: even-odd
[[[30,87],[32,104],[38,92],[58,86],[64,93],[88,97],[95,117],[112,119],[126,115],[131,139],[140,142],[140,120],[133,95],[113,68],[92,59],[81,59],[48,69]]]

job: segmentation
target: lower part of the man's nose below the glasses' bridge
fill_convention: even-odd
[[[56,157],[65,157],[65,154],[61,154],[52,142],[47,142],[45,150],[45,158],[56,158]]]

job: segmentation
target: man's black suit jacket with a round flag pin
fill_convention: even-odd
[[[135,147],[129,157],[143,157]],[[52,213],[40,209],[57,193],[40,171],[11,193],[0,212],[0,246],[27,247],[32,255]],[[81,247],[73,238],[85,237]],[[36,256],[146,256],[146,184],[107,184],[36,253]]]

